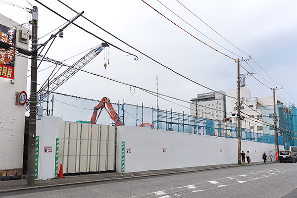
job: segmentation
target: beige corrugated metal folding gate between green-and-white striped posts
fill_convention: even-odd
[[[60,121],[59,157],[63,173],[115,170],[115,126]]]

